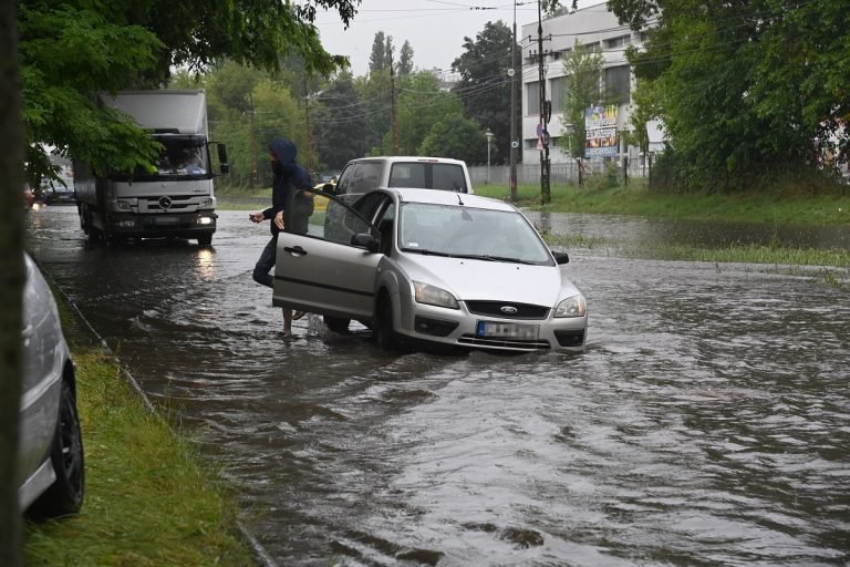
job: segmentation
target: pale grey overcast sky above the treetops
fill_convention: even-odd
[[[602,1],[580,0],[579,8]],[[524,24],[537,21],[537,1],[518,1],[516,10],[517,34],[521,34]],[[464,52],[464,37],[475,40],[485,23],[497,20],[508,28],[514,25],[510,0],[363,0],[348,30],[336,12],[320,12],[315,23],[324,48],[348,55],[357,76],[369,72],[372,42],[379,31],[392,35],[396,58],[404,42],[411,43],[415,69],[449,71],[452,62]]]

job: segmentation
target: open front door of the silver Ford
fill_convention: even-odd
[[[338,197],[298,189],[289,231],[278,236],[272,303],[370,320],[377,277],[377,229]]]

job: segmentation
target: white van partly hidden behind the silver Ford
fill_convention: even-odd
[[[453,193],[474,193],[466,163],[447,157],[382,156],[352,159],[335,186],[324,187],[353,203],[377,188],[415,187]]]

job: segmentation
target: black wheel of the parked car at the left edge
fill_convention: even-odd
[[[56,473],[56,480],[32,504],[30,514],[40,518],[51,518],[80,512],[85,492],[83,436],[80,432],[76,399],[70,384],[64,380],[50,461]]]

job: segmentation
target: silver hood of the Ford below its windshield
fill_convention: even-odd
[[[411,279],[442,287],[462,301],[514,301],[554,306],[578,293],[560,266],[444,258],[408,254],[402,267]]]

